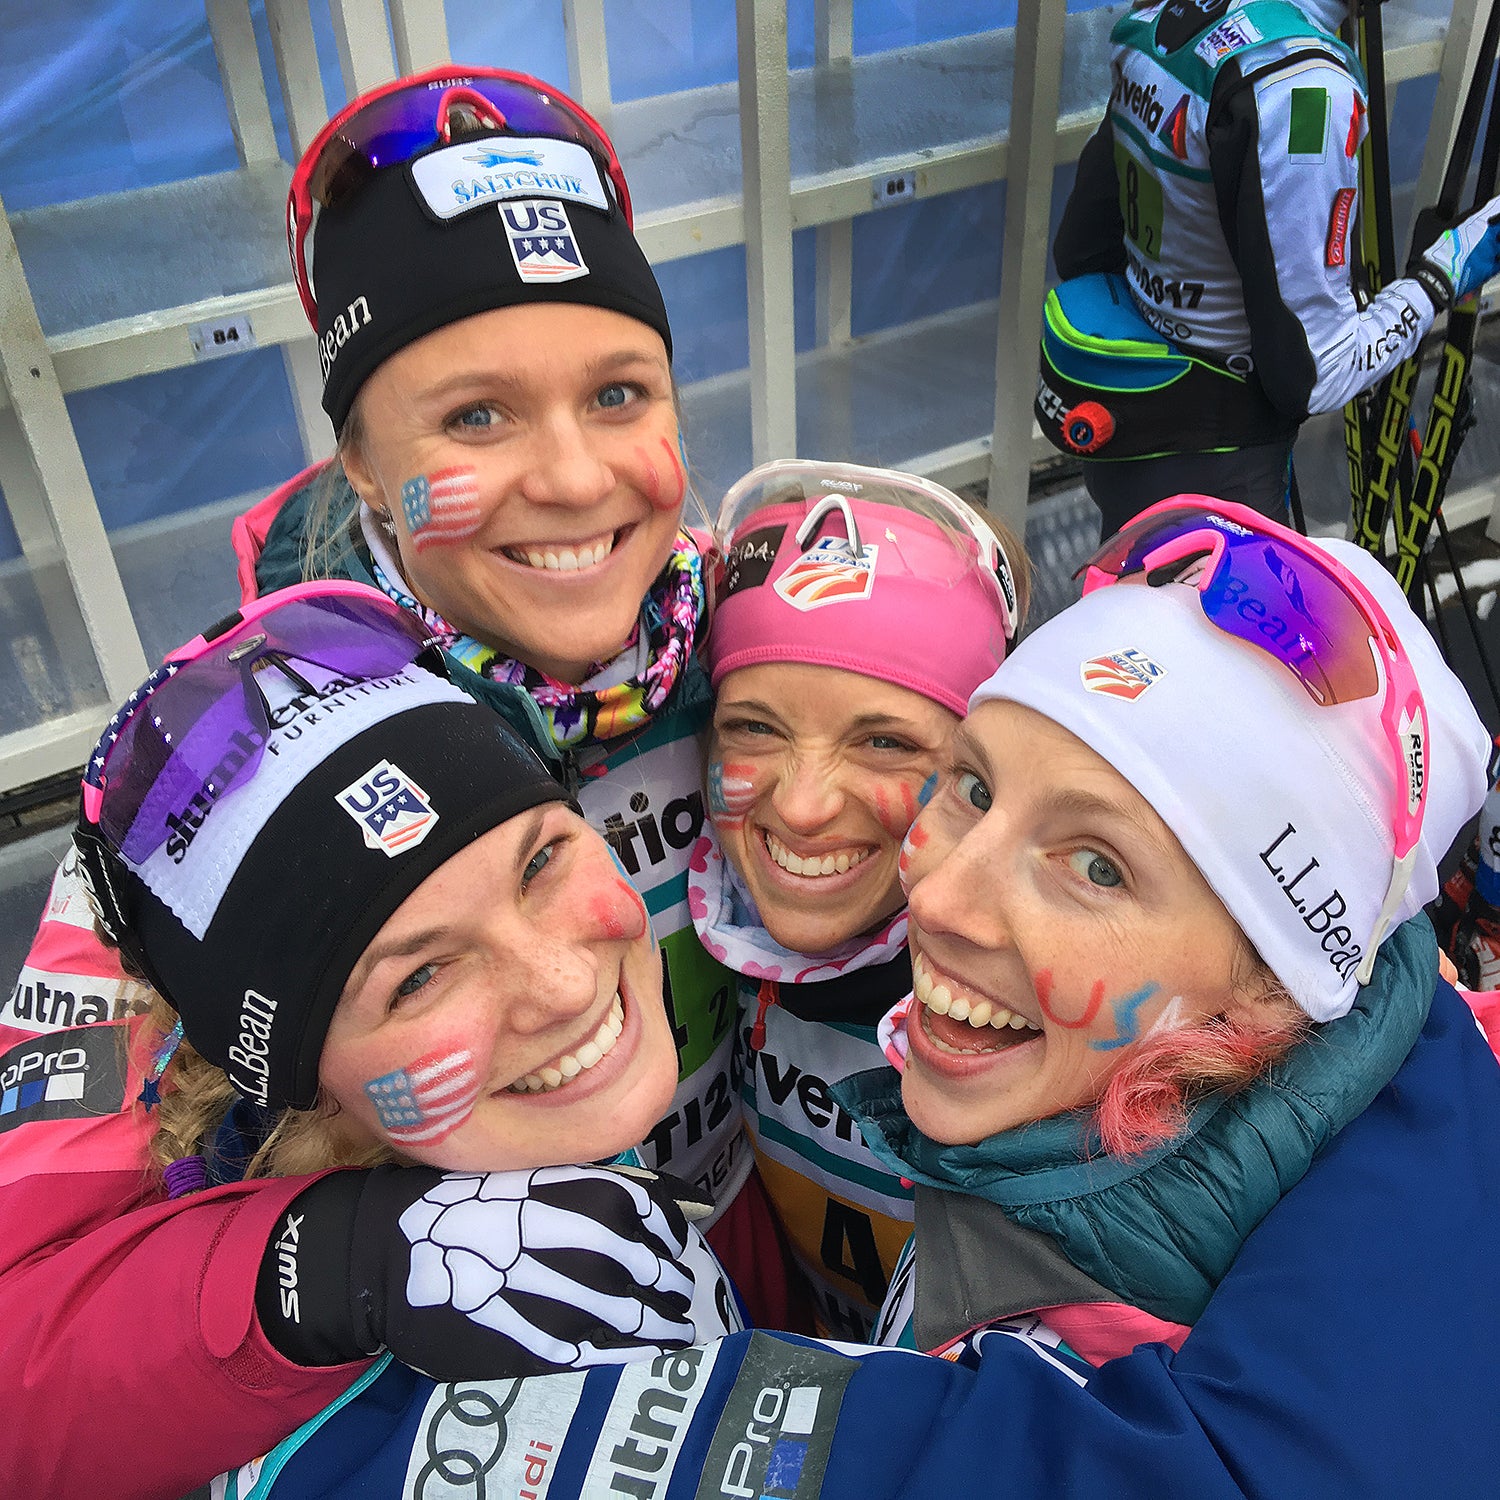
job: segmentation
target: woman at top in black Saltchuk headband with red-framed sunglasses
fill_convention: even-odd
[[[687,910],[708,540],[682,528],[672,332],[614,147],[546,84],[450,64],[324,128],[288,232],[339,450],[237,522],[243,597],[304,578],[378,586],[609,840],[662,942],[680,1053],[642,1150],[711,1197],[716,1246],[744,1248],[736,1281],[777,1320],[770,1218],[759,1192],[738,1197],[734,976]],[[50,988],[110,974],[75,933],[38,944]]]

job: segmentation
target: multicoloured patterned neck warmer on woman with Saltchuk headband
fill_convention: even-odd
[[[360,519],[364,520],[363,507]],[[698,543],[686,531],[680,531],[666,567],[640,606],[640,620],[624,650],[610,662],[597,663],[584,684],[574,687],[558,682],[525,662],[504,657],[450,626],[435,609],[411,594],[376,526],[363,525],[363,531],[380,588],[417,615],[438,638],[442,650],[471,672],[522,688],[542,710],[552,741],[560,748],[618,740],[650,723],[651,716],[672,696],[704,618],[704,558]]]

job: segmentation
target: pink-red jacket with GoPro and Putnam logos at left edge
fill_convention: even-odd
[[[6,1494],[92,1494],[108,1476],[111,1494],[180,1500],[364,1368],[291,1365],[255,1318],[261,1252],[310,1178],[170,1202],[148,1172],[138,992],[66,861],[0,1004]]]

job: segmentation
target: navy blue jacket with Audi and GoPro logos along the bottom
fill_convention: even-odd
[[[1500,1068],[1438,982],[1395,1078],[1250,1233],[1178,1353],[1090,1370],[988,1335],[970,1368],[738,1334],[520,1383],[390,1366],[261,1492],[1488,1500],[1497,1126]]]

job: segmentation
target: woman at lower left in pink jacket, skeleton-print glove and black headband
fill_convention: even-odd
[[[152,1004],[0,1024],[0,1383],[38,1394],[8,1492],[110,1462],[180,1496],[381,1352],[514,1376],[740,1326],[654,1174],[562,1166],[638,1168],[672,1096],[660,954],[410,612],[306,584],[174,651],[105,729],[75,844]],[[42,1398],[120,1365],[99,1412]]]

